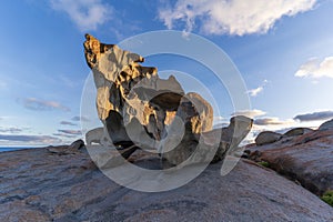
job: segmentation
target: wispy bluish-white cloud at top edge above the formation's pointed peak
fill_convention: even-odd
[[[81,31],[95,30],[113,13],[113,8],[101,0],[51,0],[51,7],[65,12]]]

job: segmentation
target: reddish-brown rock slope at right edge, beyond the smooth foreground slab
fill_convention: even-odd
[[[269,162],[270,168],[315,194],[333,190],[333,130],[317,130],[248,149],[250,159]]]

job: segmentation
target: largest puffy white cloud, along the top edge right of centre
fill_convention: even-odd
[[[178,0],[159,10],[159,18],[169,29],[199,27],[208,34],[265,33],[284,16],[311,10],[316,0]]]

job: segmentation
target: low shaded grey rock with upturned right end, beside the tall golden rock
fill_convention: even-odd
[[[189,112],[186,112],[189,113]],[[191,121],[188,121],[184,135],[179,133],[174,127],[161,145],[162,158],[170,163],[179,165],[189,159],[190,163],[216,162],[223,160],[228,151],[232,152],[241,141],[248,135],[252,128],[252,119],[239,115],[230,120],[228,128],[215,129],[201,134],[191,133]],[[172,125],[171,125],[172,127]],[[175,144],[174,141],[178,141]]]

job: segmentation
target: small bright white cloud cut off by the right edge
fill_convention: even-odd
[[[295,77],[303,78],[333,78],[333,57],[326,57],[323,61],[319,58],[311,58],[300,67]]]

